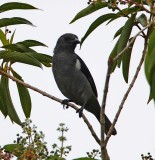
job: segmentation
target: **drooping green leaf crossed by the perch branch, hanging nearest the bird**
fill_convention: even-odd
[[[22,77],[18,73],[16,73],[13,69],[11,70],[11,72],[13,73],[14,77],[23,81]],[[18,88],[19,98],[20,98],[20,102],[21,102],[25,117],[29,118],[30,114],[31,114],[31,107],[32,107],[31,97],[30,97],[29,91],[22,84],[19,84],[19,83],[16,82],[16,85],[17,85],[17,88]]]

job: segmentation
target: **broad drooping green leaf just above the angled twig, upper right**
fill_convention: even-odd
[[[126,21],[119,38],[117,53],[120,53],[126,47],[130,38],[132,27],[134,26],[135,17],[136,14],[133,14],[131,18]]]

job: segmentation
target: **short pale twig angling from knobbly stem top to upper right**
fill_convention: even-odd
[[[143,29],[141,29],[132,39],[131,41],[128,43],[128,45],[120,52],[117,54],[117,56],[113,59],[113,62],[117,61],[122,54],[130,47],[130,45],[135,41],[135,39],[147,28],[149,28],[152,25],[153,21],[151,21],[146,27],[144,27]]]

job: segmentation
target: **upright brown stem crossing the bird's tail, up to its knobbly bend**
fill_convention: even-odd
[[[101,115],[100,115],[100,123],[101,123],[101,155],[102,160],[106,159],[106,148],[104,147],[104,133],[105,133],[105,106],[106,106],[106,100],[107,100],[107,94],[108,94],[108,88],[109,88],[109,81],[110,81],[110,75],[111,75],[111,59],[108,60],[108,69],[107,69],[107,75],[106,75],[106,81],[105,81],[105,87],[104,87],[104,93],[103,93],[103,100],[101,105]]]

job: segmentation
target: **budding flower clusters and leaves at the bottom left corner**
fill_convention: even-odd
[[[22,123],[22,135],[17,134],[17,139],[14,141],[14,144],[7,144],[3,147],[5,154],[3,156],[15,156],[18,160],[23,159],[41,159],[41,160],[62,160],[64,157],[67,157],[71,151],[71,146],[64,146],[64,142],[67,140],[64,136],[64,133],[68,131],[68,128],[65,127],[65,124],[60,123],[59,128],[57,129],[61,132],[61,136],[58,137],[61,142],[59,147],[56,143],[52,145],[52,150],[48,151],[47,143],[44,141],[45,135],[42,131],[37,131],[37,127],[32,125],[30,119],[26,119]],[[0,150],[2,152],[2,150]]]

